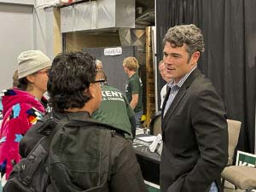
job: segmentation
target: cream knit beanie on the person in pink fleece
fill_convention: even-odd
[[[41,50],[26,50],[18,56],[19,79],[32,73],[36,73],[44,68],[51,67],[49,57]]]

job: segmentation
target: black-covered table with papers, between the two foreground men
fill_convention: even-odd
[[[160,154],[149,151],[147,143],[140,140],[139,137],[147,137],[150,135],[139,135],[133,141],[133,148],[137,155],[137,161],[141,166],[143,178],[151,183],[160,184]]]

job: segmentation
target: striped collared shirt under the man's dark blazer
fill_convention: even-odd
[[[182,79],[180,79],[177,82],[177,84],[175,84],[174,80],[170,81],[167,84],[167,86],[170,87],[171,91],[170,91],[170,95],[168,97],[168,100],[166,101],[166,108],[164,110],[164,116],[166,115],[166,112],[167,112],[168,108],[170,108],[173,99],[177,95],[177,91],[181,88],[181,86],[183,85],[185,80],[189,78],[190,73],[192,73],[195,70],[195,68],[196,68],[196,66],[194,68],[192,68],[191,71],[189,73],[187,73]]]

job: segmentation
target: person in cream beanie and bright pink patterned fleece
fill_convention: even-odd
[[[8,179],[14,162],[20,161],[19,144],[26,131],[46,113],[49,57],[40,50],[18,56],[17,87],[2,91],[3,122],[0,131],[0,170]]]

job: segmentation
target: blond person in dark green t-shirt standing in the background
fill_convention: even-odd
[[[143,82],[137,74],[139,64],[135,57],[126,57],[123,61],[125,73],[128,75],[125,84],[125,94],[135,113],[137,127],[141,127],[143,115]]]

